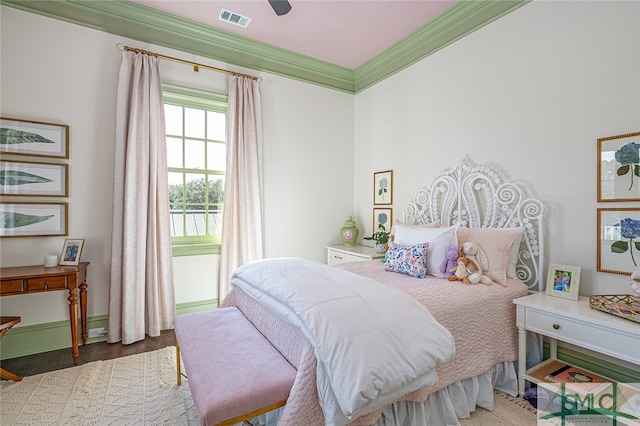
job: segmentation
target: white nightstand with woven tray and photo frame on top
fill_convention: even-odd
[[[525,380],[545,382],[546,371],[558,363],[557,341],[628,361],[640,368],[640,324],[589,307],[589,298],[568,300],[534,293],[515,299],[518,327],[518,393],[524,395]],[[547,336],[550,359],[526,368],[527,331]]]

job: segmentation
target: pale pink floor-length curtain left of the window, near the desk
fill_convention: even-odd
[[[122,52],[118,76],[107,340],[173,327],[164,100],[158,58]]]

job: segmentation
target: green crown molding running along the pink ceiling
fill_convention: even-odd
[[[355,70],[128,0],[0,0],[0,4],[227,64],[355,94],[530,1],[461,0],[437,19]]]

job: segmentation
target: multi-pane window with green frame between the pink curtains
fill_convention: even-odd
[[[174,256],[220,253],[227,97],[163,85]]]

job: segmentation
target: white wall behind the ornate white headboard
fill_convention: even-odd
[[[596,209],[639,205],[596,202],[596,140],[640,131],[639,99],[639,2],[529,3],[356,95],[356,214],[371,217],[373,172],[394,170],[401,217],[469,156],[545,202],[545,264],[581,266],[583,295],[629,293],[596,272]]]

